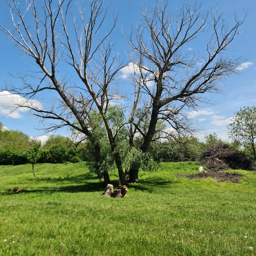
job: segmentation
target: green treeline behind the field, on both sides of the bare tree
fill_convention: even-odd
[[[51,135],[41,145],[39,141],[20,131],[4,130],[2,127],[1,124],[0,165],[95,162],[94,148],[90,141],[76,143],[68,137]],[[193,136],[180,137],[173,141],[154,141],[148,155],[156,162],[196,161],[206,148],[219,143],[225,142],[215,134],[205,137],[205,142],[200,142]]]

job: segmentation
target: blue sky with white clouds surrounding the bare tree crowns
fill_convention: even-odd
[[[22,2],[22,0],[20,0]],[[115,48],[121,54],[128,54],[129,48],[122,37],[121,27],[124,33],[128,35],[132,22],[139,22],[140,7],[142,0],[105,0],[105,4],[112,4],[115,11],[119,10],[119,18],[115,33]],[[155,1],[149,0],[154,3]],[[189,4],[196,1],[189,0]],[[169,7],[171,11],[180,9],[182,1],[170,0]],[[234,41],[233,55],[241,56],[244,65],[241,67],[241,74],[228,77],[222,84],[222,94],[212,95],[212,104],[202,105],[198,112],[191,111],[191,120],[195,121],[200,128],[199,138],[204,135],[216,133],[221,139],[228,139],[227,125],[230,123],[234,112],[244,106],[254,106],[256,100],[256,1],[255,0],[207,0],[202,2],[202,9],[207,10],[209,7],[217,7],[219,13],[224,13],[227,23],[234,20],[234,12],[240,17],[244,17],[244,11],[248,11],[245,22],[240,27],[241,34]],[[110,10],[111,10],[110,6]],[[4,1],[1,2],[0,24],[9,26],[9,7]],[[11,25],[11,24],[10,24]],[[106,25],[107,22],[106,22]],[[5,83],[20,83],[14,79],[11,74],[29,70],[31,62],[17,47],[15,47],[9,38],[0,33],[0,86]],[[193,47],[193,46],[192,46]],[[194,46],[196,47],[196,46]],[[25,108],[20,108],[10,113],[13,103],[19,101],[18,97],[0,92],[0,122],[11,130],[20,130],[29,136],[46,138],[49,134],[44,134],[43,124],[39,119],[34,117],[31,112]],[[40,101],[38,101],[40,104]],[[55,134],[69,135],[67,130],[59,130]]]

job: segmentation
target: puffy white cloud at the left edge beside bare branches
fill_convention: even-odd
[[[22,107],[18,108],[18,105]],[[42,104],[37,100],[27,100],[18,94],[11,94],[8,91],[0,92],[0,115],[22,118],[22,113],[29,111],[26,106],[41,108]]]

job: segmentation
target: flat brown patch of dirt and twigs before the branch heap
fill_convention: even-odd
[[[207,173],[197,174],[179,174],[177,175],[177,177],[188,177],[189,179],[207,179],[207,177],[211,177],[213,178],[213,180],[216,180],[217,182],[230,181],[232,183],[240,183],[239,179],[240,177],[243,177],[243,175],[240,175],[238,173],[220,173],[216,171],[211,171]]]

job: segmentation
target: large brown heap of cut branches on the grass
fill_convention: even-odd
[[[225,171],[228,169],[251,170],[254,159],[226,144],[218,144],[204,150],[199,162],[211,171]]]

